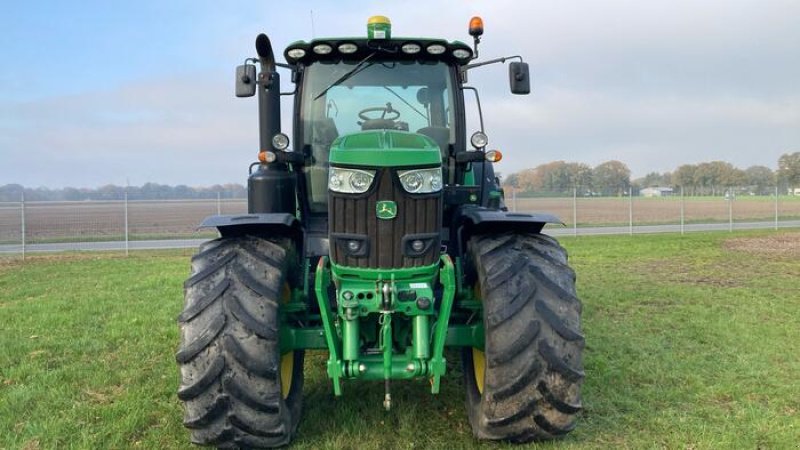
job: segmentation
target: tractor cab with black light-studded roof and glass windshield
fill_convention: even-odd
[[[430,53],[433,48],[434,53]],[[453,52],[462,56],[458,59]],[[290,45],[295,67],[295,151],[307,156],[306,198],[311,213],[327,213],[330,152],[354,135],[417,134],[447,161],[464,146],[459,70],[472,52],[431,39],[317,39]],[[377,148],[376,148],[377,150]],[[374,155],[376,164],[386,156]]]

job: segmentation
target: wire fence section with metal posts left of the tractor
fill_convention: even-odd
[[[0,254],[195,247],[216,237],[205,217],[246,212],[244,199],[0,202]]]

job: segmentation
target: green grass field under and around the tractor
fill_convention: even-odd
[[[586,335],[585,410],[523,448],[797,448],[800,232],[564,239]],[[186,448],[175,396],[185,252],[0,263],[0,448]],[[513,448],[478,443],[458,355],[443,392],[345,384],[306,363],[296,448]]]

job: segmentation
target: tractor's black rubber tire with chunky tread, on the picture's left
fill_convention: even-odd
[[[303,352],[294,352],[291,388],[281,393],[278,305],[295,285],[288,239],[227,237],[192,258],[178,317],[178,398],[191,441],[221,448],[288,444],[303,402]]]

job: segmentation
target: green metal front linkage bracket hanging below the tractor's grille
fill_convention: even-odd
[[[315,291],[319,303],[320,319],[328,349],[328,376],[333,381],[334,395],[341,395],[342,379],[383,380],[386,384],[384,407],[391,406],[390,380],[429,378],[431,392],[439,393],[440,380],[447,370],[444,347],[450,312],[456,292],[455,266],[448,255],[442,255],[438,264],[415,272],[385,271],[375,278],[356,278],[349,272],[330,264],[328,257],[320,258],[316,268]],[[394,273],[396,272],[396,273]],[[372,274],[371,274],[372,275]],[[439,308],[432,300],[434,284],[442,287]],[[335,281],[335,283],[334,283]],[[331,283],[337,286],[337,307],[332,306],[329,295]],[[408,298],[400,298],[401,291],[408,295],[413,288],[423,298],[419,307]],[[374,294],[374,295],[373,295]],[[364,319],[377,314],[377,353],[362,352]],[[398,316],[409,320],[410,335],[405,338],[410,345],[405,352],[393,348]]]

